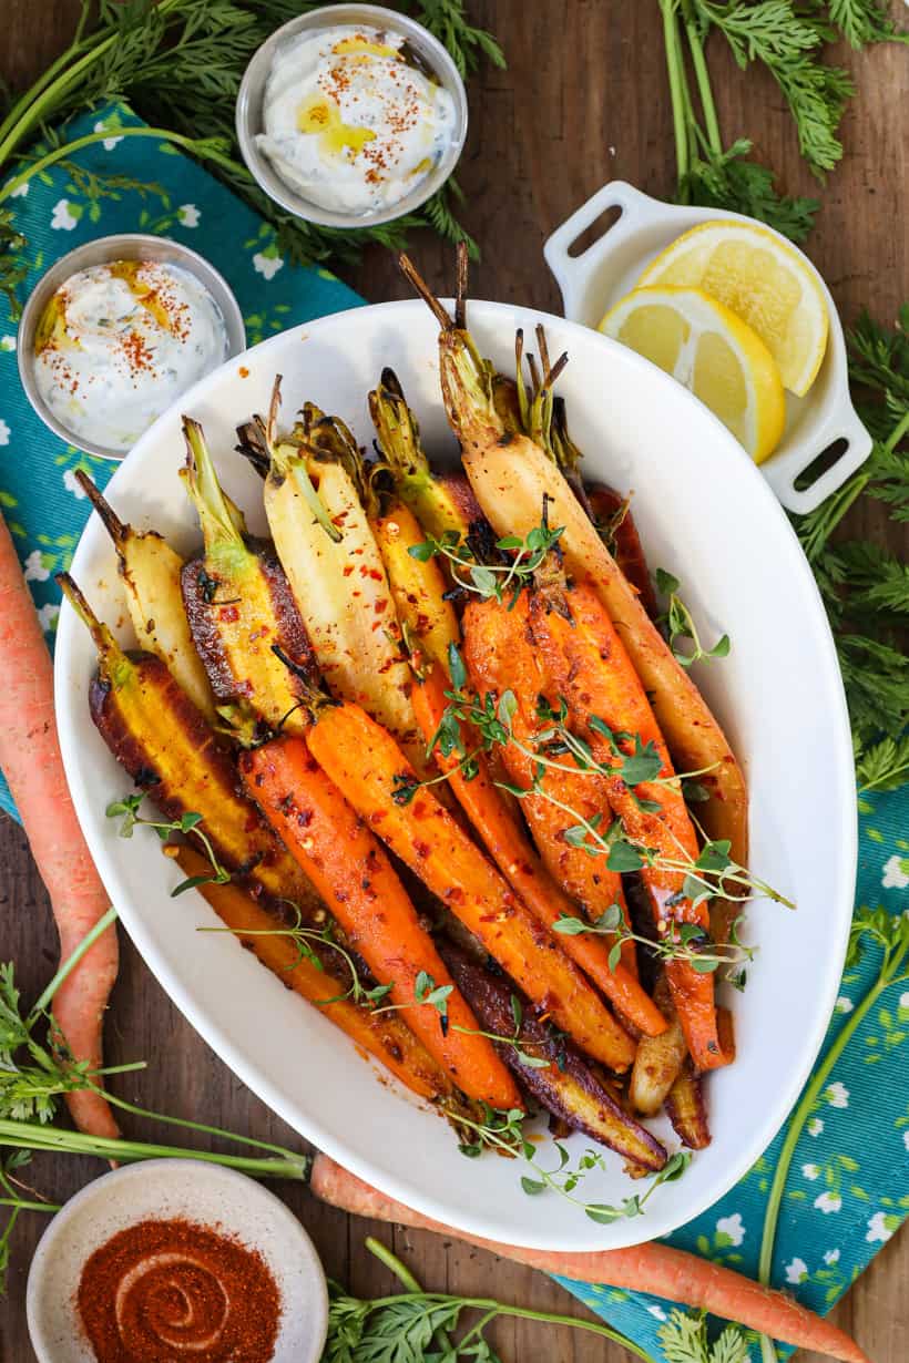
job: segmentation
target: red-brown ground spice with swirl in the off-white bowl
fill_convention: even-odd
[[[194,1221],[139,1221],[86,1261],[79,1317],[98,1363],[268,1363],[281,1296],[258,1250]]]

